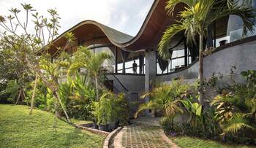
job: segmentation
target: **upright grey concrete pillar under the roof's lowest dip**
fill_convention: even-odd
[[[148,92],[152,89],[152,82],[157,75],[156,51],[146,51],[145,61],[145,92]],[[148,98],[145,101],[148,101]],[[146,110],[146,116],[151,116],[148,110]]]

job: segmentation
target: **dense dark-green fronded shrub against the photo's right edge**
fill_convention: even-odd
[[[216,96],[211,105],[216,108],[216,119],[223,137],[242,139],[256,144],[256,73],[242,71],[246,84],[235,83]]]

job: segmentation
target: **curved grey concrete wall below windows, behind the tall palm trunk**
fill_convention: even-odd
[[[227,47],[203,59],[204,77],[211,77],[214,72],[221,73],[224,76],[230,74],[230,68],[236,66],[236,73],[256,69],[256,41],[238,44],[233,47]],[[198,76],[198,61],[183,71],[173,74],[157,76],[157,82],[166,82],[177,77],[184,79],[196,79]]]

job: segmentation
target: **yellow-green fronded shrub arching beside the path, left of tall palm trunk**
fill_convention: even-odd
[[[176,113],[183,113],[181,99],[195,96],[195,85],[189,85],[182,79],[174,80],[169,84],[160,84],[151,92],[145,93],[141,98],[149,98],[146,104],[139,106],[135,117],[145,109],[154,109],[167,117],[173,117]]]

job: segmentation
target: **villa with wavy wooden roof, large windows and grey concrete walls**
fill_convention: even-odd
[[[238,4],[243,2],[238,0]],[[178,19],[176,15],[166,15],[165,4],[166,0],[154,1],[136,36],[129,36],[93,20],[80,22],[65,32],[72,32],[77,38],[67,52],[72,53],[83,45],[91,52],[113,55],[114,60],[104,64],[108,73],[106,86],[115,93],[127,93],[129,101],[138,101],[139,94],[151,90],[154,82],[170,82],[178,77],[197,79],[199,46],[196,43],[187,44],[184,32],[176,34],[171,40],[169,48],[172,56],[168,61],[157,54],[163,32]],[[256,8],[256,0],[246,4]],[[174,13],[181,9],[184,9],[184,4],[178,4]],[[207,44],[203,46],[214,51],[203,59],[204,77],[211,77],[213,73],[225,76],[232,66],[236,66],[238,72],[256,68],[256,36],[249,32],[243,34],[243,30],[241,18],[235,15],[217,20],[209,27],[209,37],[205,39]],[[49,50],[51,54],[57,51],[56,47],[64,46],[64,34],[54,40],[55,47]],[[133,63],[137,65],[135,71]]]

